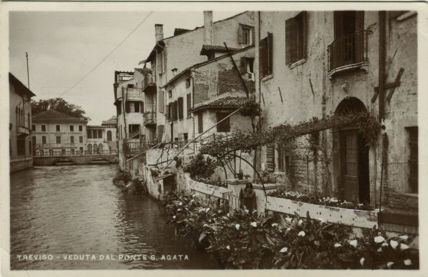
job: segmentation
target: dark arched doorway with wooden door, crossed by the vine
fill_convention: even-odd
[[[355,97],[342,100],[336,115],[355,114],[367,111],[365,105]],[[370,202],[370,169],[367,141],[358,132],[357,126],[346,126],[335,130],[333,148],[336,168],[340,171],[340,197],[347,201]]]

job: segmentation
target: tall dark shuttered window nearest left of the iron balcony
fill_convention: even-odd
[[[285,21],[285,64],[306,58],[306,11]]]

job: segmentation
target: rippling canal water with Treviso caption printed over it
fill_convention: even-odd
[[[175,238],[162,205],[114,186],[117,170],[46,166],[12,173],[11,269],[215,268],[207,253]]]

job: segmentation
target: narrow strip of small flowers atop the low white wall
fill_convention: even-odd
[[[315,196],[308,196],[307,194],[300,193],[298,191],[274,191],[269,193],[268,196],[285,198],[294,201],[300,201],[305,203],[311,203],[316,205],[323,205],[328,207],[337,207],[337,208],[350,208],[352,210],[362,210],[362,211],[373,211],[372,206],[368,203],[354,203],[346,200],[338,200],[334,197],[323,197],[318,198]]]

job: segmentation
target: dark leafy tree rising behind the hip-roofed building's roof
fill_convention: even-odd
[[[31,110],[33,116],[40,114],[48,109],[59,111],[68,116],[74,116],[78,118],[90,120],[88,116],[84,116],[86,113],[83,111],[81,106],[70,104],[62,98],[51,98],[51,99],[40,99],[39,101],[31,100]]]

